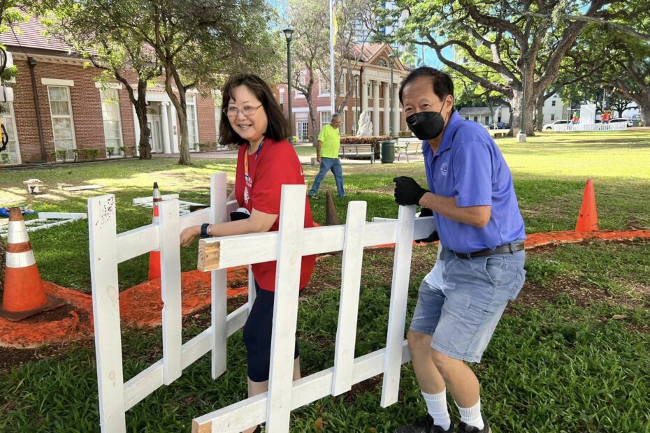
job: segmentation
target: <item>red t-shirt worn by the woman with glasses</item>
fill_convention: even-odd
[[[270,232],[277,231],[278,223],[280,223],[282,185],[304,185],[303,167],[294,147],[287,140],[275,141],[265,138],[257,155],[248,156],[248,173],[251,177],[252,187],[248,191],[248,203],[245,203],[244,154],[247,149],[247,145],[239,147],[235,175],[235,198],[238,205],[245,207],[249,212],[255,208],[266,214],[277,214],[277,219],[268,230]],[[312,209],[307,196],[305,196],[305,228],[313,226]],[[300,288],[307,286],[315,263],[316,256],[303,256]],[[254,264],[253,273],[260,288],[266,291],[275,291],[275,261]]]

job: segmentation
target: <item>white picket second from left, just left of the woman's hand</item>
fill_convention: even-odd
[[[182,307],[178,200],[154,203],[159,211],[160,288],[163,302],[163,378],[171,384],[182,374]]]

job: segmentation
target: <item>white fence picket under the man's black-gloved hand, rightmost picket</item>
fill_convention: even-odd
[[[386,338],[386,358],[384,358],[382,407],[397,402],[400,387],[414,228],[415,206],[400,206],[395,236],[395,258],[393,259],[393,283],[391,286],[391,306]]]

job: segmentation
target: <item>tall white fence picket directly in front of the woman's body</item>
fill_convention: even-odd
[[[305,185],[283,185],[275,266],[275,305],[271,337],[266,431],[289,431],[294,345],[298,319]]]

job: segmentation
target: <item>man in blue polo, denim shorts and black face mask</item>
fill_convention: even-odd
[[[417,68],[399,97],[409,128],[423,140],[429,189],[396,177],[395,199],[434,212],[440,251],[420,286],[408,332],[428,414],[396,432],[453,432],[448,389],[461,414],[458,432],[488,433],[479,381],[467,362],[480,362],[526,275],[526,235],[512,176],[489,133],[454,110],[449,75]]]

